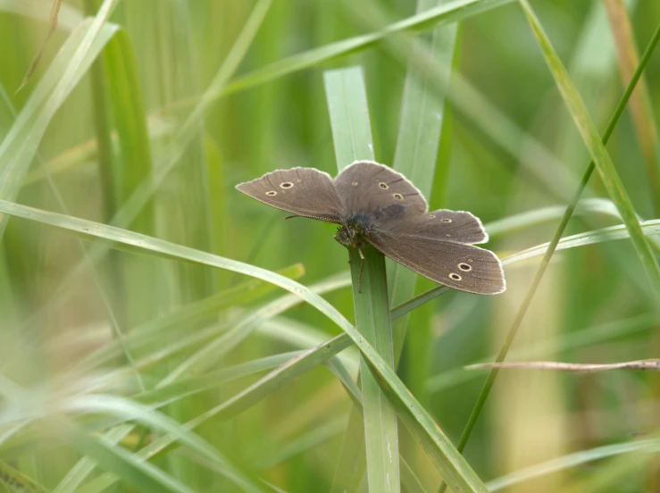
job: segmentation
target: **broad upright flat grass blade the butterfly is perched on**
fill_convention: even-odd
[[[327,71],[324,82],[338,171],[355,161],[372,161],[372,127],[362,68]],[[355,328],[394,367],[385,258],[369,245],[363,246],[362,253],[364,260],[355,248],[349,256]],[[400,491],[397,414],[362,356],[360,379],[369,490]]]

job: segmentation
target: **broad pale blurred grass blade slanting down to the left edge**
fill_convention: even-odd
[[[0,197],[18,196],[48,124],[117,30],[105,22],[116,4],[117,0],[105,0],[96,18],[71,33],[0,144]],[[7,220],[0,215],[0,238]]]

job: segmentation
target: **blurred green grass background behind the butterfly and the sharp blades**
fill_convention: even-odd
[[[491,232],[486,247],[505,258],[552,238],[589,152],[520,4],[419,8],[436,4],[455,14],[438,29],[456,29],[445,53],[456,92],[447,96],[430,79],[427,90],[447,102],[441,135],[419,131],[439,139],[432,181],[421,185],[431,190],[431,209],[480,217]],[[375,158],[391,165],[412,70],[407,41],[428,45],[434,22],[328,57],[323,50],[333,43],[391,28],[418,7],[403,0],[64,2],[36,71],[14,94],[44,44],[51,7],[0,1],[0,198],[288,269],[305,286],[325,283],[322,296],[353,320],[347,251],[332,239],[335,227],[283,221],[287,213],[234,187],[293,166],[337,173],[323,73],[350,66],[363,69]],[[660,22],[660,3],[535,0],[531,7],[604,130]],[[85,29],[94,26],[85,18],[99,8],[113,11],[89,48]],[[288,58],[296,54],[304,55]],[[607,149],[635,212],[653,220],[660,54],[648,60],[644,79]],[[131,203],[136,190],[144,200]],[[578,209],[566,236],[622,222],[597,174],[585,197],[591,206]],[[527,219],[516,226],[520,217]],[[341,333],[313,306],[288,309],[293,303],[280,288],[237,272],[134,249],[98,254],[98,239],[8,215],[0,221],[0,479],[25,475],[23,489],[6,480],[0,491],[40,491],[37,483],[148,490],[131,475],[138,466],[128,454],[163,432],[148,420],[130,429],[141,421],[131,403],[162,403],[163,419],[186,423],[248,389],[290,352]],[[630,239],[596,241],[554,255],[511,359],[614,363],[657,354],[657,300]],[[503,295],[450,291],[410,316],[397,374],[454,443],[487,375],[464,366],[492,361],[537,267],[538,257],[507,265]],[[419,279],[416,292],[433,287]],[[189,359],[211,344],[217,354]],[[355,349],[341,355],[355,379]],[[183,383],[149,397],[163,381]],[[514,473],[515,484],[500,485],[506,491],[658,491],[660,463],[648,452],[660,443],[653,438],[659,383],[653,372],[501,372],[464,455],[484,482]],[[257,395],[197,434],[265,491],[337,490],[343,441],[355,439],[340,380],[319,364]],[[95,396],[117,400],[98,397],[95,407]],[[117,445],[98,445],[121,423],[128,428]],[[414,477],[404,490],[436,491],[438,470],[405,427],[399,433]],[[625,452],[635,439],[647,439],[639,446],[646,453]],[[622,447],[603,458],[599,447],[607,445]],[[572,463],[581,451],[580,464]],[[83,455],[97,464],[86,474],[76,465]],[[555,472],[523,480],[523,468],[551,459]],[[191,491],[252,488],[185,444],[151,462]],[[105,471],[120,480],[107,481]],[[366,491],[366,480],[355,488]]]

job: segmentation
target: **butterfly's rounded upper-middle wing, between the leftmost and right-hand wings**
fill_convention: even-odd
[[[348,215],[404,217],[428,209],[420,191],[404,175],[371,161],[344,168],[335,178],[335,188]]]

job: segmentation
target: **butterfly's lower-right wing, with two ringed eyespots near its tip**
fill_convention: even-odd
[[[392,260],[449,288],[480,295],[506,289],[502,264],[489,250],[401,233],[374,231],[366,239]]]

